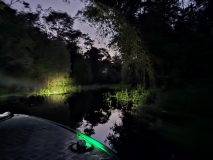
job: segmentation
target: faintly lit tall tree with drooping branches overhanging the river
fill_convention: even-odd
[[[111,36],[110,47],[116,49],[122,55],[123,64],[129,65],[137,63],[140,70],[135,70],[137,83],[146,85],[146,78],[150,84],[154,85],[155,73],[149,51],[136,29],[132,24],[124,18],[123,12],[120,11],[126,1],[119,3],[118,1],[86,1],[87,6],[84,10],[79,11],[78,15],[82,15],[89,23],[98,28],[98,33],[102,37]],[[119,6],[120,5],[120,6]],[[127,4],[129,5],[129,4]],[[126,9],[124,9],[126,10]],[[128,72],[123,67],[123,72]],[[145,75],[148,73],[148,76]],[[125,79],[125,76],[123,75]]]

